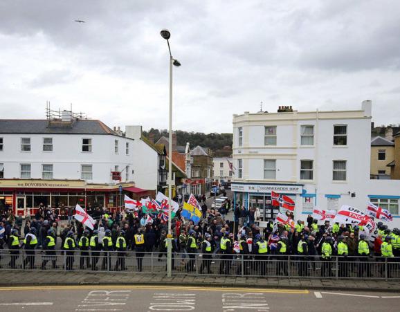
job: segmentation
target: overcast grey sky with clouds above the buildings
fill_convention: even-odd
[[[360,109],[400,122],[400,1],[1,0],[0,118],[232,132],[232,115]],[[80,19],[85,23],[77,23]]]

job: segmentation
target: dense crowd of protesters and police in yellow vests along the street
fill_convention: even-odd
[[[188,272],[194,271],[195,256],[201,255],[199,273],[211,273],[211,264],[218,259],[218,272],[214,273],[230,274],[233,260],[242,257],[244,261],[235,265],[236,273],[266,275],[268,260],[275,259],[278,261],[274,267],[276,274],[287,275],[287,259],[292,255],[298,275],[307,276],[310,270],[320,270],[321,276],[330,276],[332,259],[338,256],[341,277],[347,277],[352,271],[353,275],[363,277],[372,274],[367,265],[369,257],[388,258],[390,262],[396,261],[393,257],[400,257],[400,231],[397,228],[390,230],[381,222],[377,223],[379,230],[371,241],[363,227],[330,224],[329,221],[318,224],[311,215],[305,222],[297,221],[294,228],[273,221],[261,228],[258,208],[246,210],[239,205],[233,208],[227,199],[219,210],[214,210],[208,208],[205,197],[201,196],[199,201],[203,218],[198,224],[182,218],[181,209],[172,220],[172,252],[181,254],[179,259],[174,257],[174,268],[180,266]],[[234,221],[225,218],[229,210],[233,210]],[[55,210],[39,208],[36,214],[26,218],[24,229],[21,217],[3,212],[0,248],[10,250],[8,266],[16,268],[20,248],[25,250],[24,268],[35,266],[34,255],[38,249],[48,256],[43,258],[43,269],[49,261],[53,267],[57,266],[56,249],[64,250],[67,255],[67,270],[73,269],[74,250],[81,252],[80,268],[91,270],[108,268],[111,251],[118,255],[115,270],[127,269],[125,252],[130,250],[136,255],[139,271],[145,253],[157,253],[158,261],[166,256],[167,222],[156,217],[149,222],[147,214],[140,209],[111,213],[107,209],[90,208],[88,212],[96,220],[94,230],[84,228],[82,223],[72,219],[73,209],[67,212],[66,222],[59,222]],[[294,219],[293,213],[287,212],[287,215]],[[352,261],[358,266],[349,265]]]

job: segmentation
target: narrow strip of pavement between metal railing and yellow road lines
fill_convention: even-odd
[[[397,280],[366,279],[311,279],[311,278],[273,278],[273,277],[224,277],[194,276],[151,273],[93,273],[57,271],[0,271],[0,286],[56,286],[56,285],[170,285],[170,286],[219,286],[239,288],[289,288],[322,289],[327,291],[385,291],[400,293]]]

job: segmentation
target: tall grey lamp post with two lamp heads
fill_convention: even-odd
[[[168,235],[167,235],[167,277],[172,276],[172,65],[181,66],[181,63],[177,59],[174,59],[171,54],[170,47],[170,30],[161,30],[161,37],[167,40],[168,51],[170,51],[170,128],[169,128],[169,142],[168,142],[168,154],[169,154],[169,164],[168,164]]]

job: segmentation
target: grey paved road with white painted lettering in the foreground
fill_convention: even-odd
[[[392,311],[394,293],[345,293],[184,286],[27,286],[0,288],[6,311]],[[312,308],[313,307],[313,308]]]

